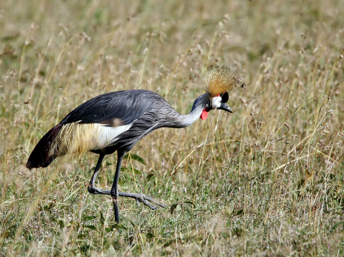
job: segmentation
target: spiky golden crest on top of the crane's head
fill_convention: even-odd
[[[200,87],[211,97],[217,96],[240,86],[245,89],[241,78],[229,67],[213,67],[202,76]]]

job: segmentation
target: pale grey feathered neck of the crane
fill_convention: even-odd
[[[193,124],[202,114],[203,109],[207,106],[209,95],[203,94],[196,98],[189,114],[182,115],[175,111],[173,124],[166,126],[170,128],[185,128]],[[173,115],[174,116],[174,115]]]

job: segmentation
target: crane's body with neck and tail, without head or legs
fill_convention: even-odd
[[[149,90],[123,90],[96,96],[52,128],[44,136],[50,140],[43,140],[44,146],[37,144],[26,166],[47,167],[56,157],[67,153],[128,152],[155,129],[191,125],[203,110],[197,103],[189,115],[181,115],[164,98]]]

